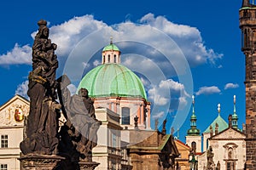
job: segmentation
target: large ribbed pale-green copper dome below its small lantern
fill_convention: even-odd
[[[137,75],[124,65],[99,65],[89,71],[79,83],[90,97],[134,97],[147,99],[143,83]]]

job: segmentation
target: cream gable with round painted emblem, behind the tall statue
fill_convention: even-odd
[[[29,114],[29,101],[15,95],[0,107],[0,127],[23,126]]]

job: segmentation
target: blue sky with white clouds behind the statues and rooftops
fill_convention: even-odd
[[[79,74],[73,78],[74,87],[86,71],[99,64],[97,50],[108,45],[113,36],[122,51],[122,64],[143,79],[148,100],[154,105],[152,116],[160,122],[168,112],[172,118],[183,116],[183,121],[168,126],[180,127],[182,140],[189,128],[192,94],[201,131],[218,116],[218,103],[227,120],[233,112],[233,95],[241,127],[245,122],[245,62],[240,50],[240,7],[238,0],[3,1],[0,105],[15,94],[26,94],[27,75],[32,70],[32,36],[38,30],[38,20],[44,19],[49,22],[50,38],[58,45],[57,75],[67,73],[70,63],[83,64],[82,70],[79,65],[72,67],[76,70],[70,74]],[[174,44],[172,48],[169,43]],[[80,60],[72,58],[73,51]],[[168,89],[167,96],[163,89]]]

